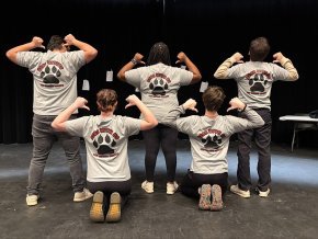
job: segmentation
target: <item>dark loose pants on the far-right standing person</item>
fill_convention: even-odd
[[[255,110],[265,124],[259,128],[247,129],[238,133],[238,168],[237,179],[241,190],[250,190],[252,186],[250,174],[250,152],[252,140],[254,139],[258,150],[258,174],[259,180],[257,186],[260,191],[266,191],[271,183],[271,130],[272,116],[268,109]],[[241,115],[240,115],[241,116]]]

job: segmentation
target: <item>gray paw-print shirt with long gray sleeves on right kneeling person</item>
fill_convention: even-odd
[[[184,113],[183,106],[171,111],[163,122],[189,135],[192,153],[190,170],[202,174],[228,172],[227,151],[230,136],[264,123],[249,106],[245,110],[247,118],[232,115],[218,115],[213,120],[198,115],[179,117],[181,113]]]

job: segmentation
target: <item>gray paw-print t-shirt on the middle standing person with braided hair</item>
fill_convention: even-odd
[[[193,73],[178,67],[156,64],[128,70],[125,78],[129,84],[139,89],[141,101],[161,123],[161,118],[170,110],[178,107],[178,90],[191,83]]]

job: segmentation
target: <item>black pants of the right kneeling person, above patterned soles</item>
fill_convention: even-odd
[[[227,172],[217,174],[201,174],[188,170],[188,173],[184,175],[180,184],[180,191],[189,197],[198,198],[200,194],[197,190],[202,186],[202,184],[218,184],[222,189],[222,195],[224,196],[228,186],[227,181]]]

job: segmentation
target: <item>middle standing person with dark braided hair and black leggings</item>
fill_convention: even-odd
[[[180,87],[196,83],[202,77],[184,53],[179,53],[177,57],[177,62],[184,62],[189,70],[172,67],[168,46],[159,42],[151,47],[147,66],[133,69],[138,64],[145,64],[141,60],[144,56],[136,53],[134,58],[117,73],[120,80],[139,89],[141,101],[152,111],[159,122],[157,127],[143,132],[146,147],[146,180],[141,183],[141,187],[147,193],[154,193],[155,168],[160,146],[167,167],[167,194],[174,194],[178,190],[175,182],[178,130],[162,125],[161,118],[179,105]]]

